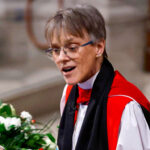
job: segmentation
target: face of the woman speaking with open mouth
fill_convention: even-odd
[[[63,48],[61,48],[58,56],[53,56],[53,60],[67,84],[74,85],[82,83],[99,71],[101,66],[100,59],[102,59],[102,56],[97,57],[97,53],[100,48],[104,49],[104,42],[101,42],[101,46],[88,44],[79,47],[89,41],[90,39],[88,36],[84,38],[74,37],[72,35],[66,35],[63,32],[60,34],[60,40],[58,40],[56,36],[52,38],[50,44],[52,48],[61,48],[66,45],[67,47],[78,47],[70,56],[62,50]]]

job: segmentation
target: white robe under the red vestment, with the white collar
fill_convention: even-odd
[[[91,89],[98,73],[84,83],[79,83],[82,89]],[[63,113],[65,106],[65,94],[67,85],[64,88],[61,102],[60,112]],[[119,95],[125,96],[125,95]],[[132,99],[132,98],[131,98]],[[145,120],[140,105],[134,100],[129,102],[123,111],[118,142],[116,150],[150,150],[150,129]],[[72,137],[72,150],[75,150],[82,123],[88,106],[80,104],[77,121],[75,124]]]

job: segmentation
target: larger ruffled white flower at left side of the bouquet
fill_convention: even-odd
[[[16,118],[16,117],[7,117],[4,121],[4,125],[6,130],[10,130],[10,126],[14,125],[15,128],[17,129],[18,127],[21,126],[21,120],[20,118]]]

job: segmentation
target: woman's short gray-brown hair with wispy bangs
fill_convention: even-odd
[[[91,5],[77,5],[74,8],[59,10],[50,17],[45,27],[46,39],[53,38],[54,32],[59,39],[61,30],[67,34],[84,37],[86,31],[93,41],[106,40],[105,21],[101,13]],[[106,50],[104,57],[107,57]]]

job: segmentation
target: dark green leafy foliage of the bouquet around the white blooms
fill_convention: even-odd
[[[19,117],[16,115],[16,111],[11,104],[2,103],[1,101],[0,116],[3,116],[4,118]],[[44,141],[44,137],[47,136],[55,143],[55,138],[52,134],[45,133],[47,129],[51,127],[53,122],[54,120],[50,120],[46,125],[41,125],[40,129],[33,129],[31,122],[26,122],[26,120],[21,119],[21,127],[16,128],[15,125],[11,125],[9,131],[7,131],[5,125],[1,123],[0,145],[4,146],[5,150],[38,150],[41,147],[43,147],[44,150],[50,150],[46,141]]]

